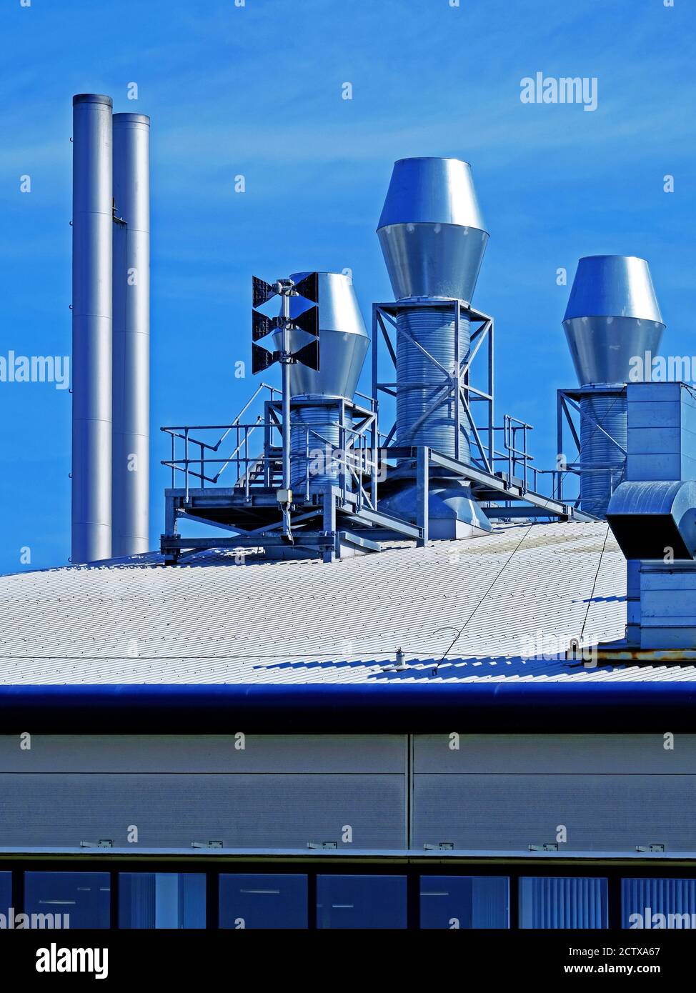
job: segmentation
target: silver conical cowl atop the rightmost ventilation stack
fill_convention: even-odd
[[[645,259],[581,258],[563,328],[581,386],[626,382],[630,359],[655,354],[665,328]]]

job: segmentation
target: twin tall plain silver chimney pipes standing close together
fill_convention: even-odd
[[[149,130],[73,97],[71,561],[148,550]]]

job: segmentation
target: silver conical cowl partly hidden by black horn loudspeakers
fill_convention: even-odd
[[[290,277],[299,283],[307,272]],[[352,287],[352,279],[343,273],[320,272],[319,277],[319,371],[299,362],[290,366],[290,392],[293,397],[352,398],[362,371],[369,338]],[[290,298],[290,316],[308,309],[302,297]],[[276,349],[282,348],[282,332],[273,336]],[[314,339],[307,332],[290,332],[290,348],[297,352]]]

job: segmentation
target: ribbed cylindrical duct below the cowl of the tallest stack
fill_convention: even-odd
[[[397,315],[396,330],[396,443],[427,445],[443,455],[469,462],[468,422],[461,394],[452,388],[452,382],[438,365],[418,348],[420,345],[439,365],[455,372],[458,356],[453,308],[432,305],[405,308]],[[469,354],[470,337],[469,321],[460,320],[460,362]]]

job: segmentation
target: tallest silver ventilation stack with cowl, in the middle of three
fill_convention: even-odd
[[[456,334],[454,301],[471,304],[488,240],[469,163],[396,162],[377,236],[398,304],[396,445],[423,445],[469,463],[458,372],[469,355],[471,328],[460,318]],[[413,461],[401,460],[398,472],[404,488],[380,505],[415,519]],[[435,538],[465,537],[475,527],[490,530],[470,488],[444,476],[432,481],[429,518]]]

